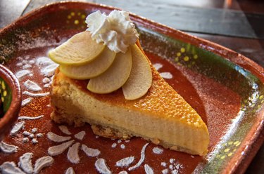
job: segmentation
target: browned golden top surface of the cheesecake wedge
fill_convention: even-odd
[[[113,93],[96,94],[87,90],[88,80],[70,79],[57,69],[57,76],[68,78],[75,83],[82,91],[97,100],[108,102],[110,105],[124,106],[133,110],[140,110],[156,116],[168,117],[168,119],[178,119],[182,123],[192,124],[195,127],[203,126],[205,123],[194,109],[180,96],[171,86],[164,81],[156,69],[151,65],[153,81],[148,93],[137,100],[125,100],[122,89]]]

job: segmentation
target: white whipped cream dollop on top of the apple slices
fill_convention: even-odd
[[[96,11],[87,16],[87,31],[98,44],[103,42],[115,53],[125,53],[135,44],[139,34],[126,11],[111,11],[109,15]]]

